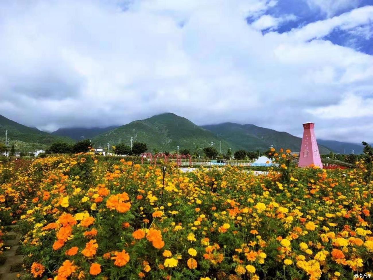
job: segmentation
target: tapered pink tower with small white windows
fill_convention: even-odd
[[[303,124],[303,139],[301,152],[299,155],[298,167],[308,167],[311,164],[323,167],[321,163],[319,147],[317,146],[313,122],[305,122]]]

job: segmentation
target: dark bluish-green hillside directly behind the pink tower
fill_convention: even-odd
[[[258,127],[253,124],[223,124],[203,125],[203,128],[212,131],[217,137],[227,140],[232,146],[243,150],[267,150],[271,145],[276,149],[291,149],[299,152],[302,139],[287,132]],[[319,144],[321,154],[330,153],[330,150]]]

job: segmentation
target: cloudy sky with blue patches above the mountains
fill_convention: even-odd
[[[0,98],[47,131],[173,112],[372,143],[373,0],[1,0]]]

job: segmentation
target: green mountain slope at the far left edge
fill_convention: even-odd
[[[74,140],[68,137],[54,136],[37,128],[26,127],[0,115],[0,141],[2,143],[5,143],[6,130],[8,131],[7,138],[10,139],[9,148],[14,144],[16,150],[32,151],[35,149],[45,149],[57,141],[74,142]]]

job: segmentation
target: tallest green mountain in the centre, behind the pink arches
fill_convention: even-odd
[[[110,142],[110,146],[115,146],[118,143],[130,145],[131,137],[134,137],[134,141],[146,143],[148,150],[156,148],[160,151],[176,151],[176,147],[179,146],[180,149],[194,151],[196,146],[207,147],[211,141],[214,142],[213,147],[218,151],[220,141],[223,152],[231,146],[211,131],[173,113],[164,113],[148,119],[133,121],[93,137],[92,142],[95,143],[95,146],[106,146],[108,142]]]

